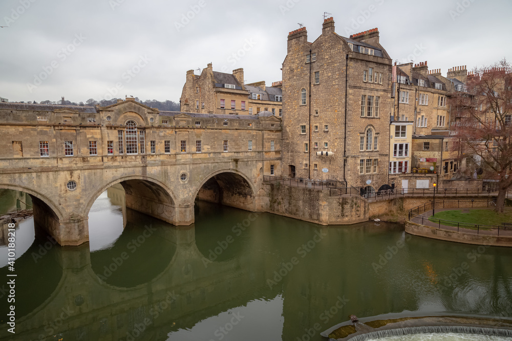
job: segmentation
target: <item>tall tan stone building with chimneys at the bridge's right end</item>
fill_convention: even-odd
[[[290,32],[283,62],[282,175],[388,183],[391,59],[377,29],[342,37],[334,20],[308,41]]]

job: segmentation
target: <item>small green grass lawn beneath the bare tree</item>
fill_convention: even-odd
[[[505,207],[503,211],[503,214],[497,214],[491,209],[470,209],[470,211],[466,213],[462,213],[462,210],[451,210],[438,212],[436,213],[435,218],[479,225],[501,225],[502,222],[512,223],[512,207]],[[430,218],[434,218],[434,216],[430,216]]]

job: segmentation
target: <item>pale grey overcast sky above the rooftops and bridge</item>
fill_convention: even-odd
[[[428,60],[443,75],[512,59],[510,0],[2,0],[0,97],[177,102],[186,71],[209,62],[270,84],[288,32],[301,23],[314,41],[324,12],[338,34],[377,27],[392,59]]]

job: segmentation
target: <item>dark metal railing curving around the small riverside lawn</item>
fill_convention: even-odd
[[[435,202],[436,210],[446,208],[493,208],[495,206],[496,199],[492,198],[472,200],[436,200]],[[409,211],[409,221],[446,231],[484,236],[512,236],[512,222],[503,222],[501,225],[484,225],[438,219],[422,215],[425,212],[432,211],[433,207],[433,202],[431,201],[411,209]]]

